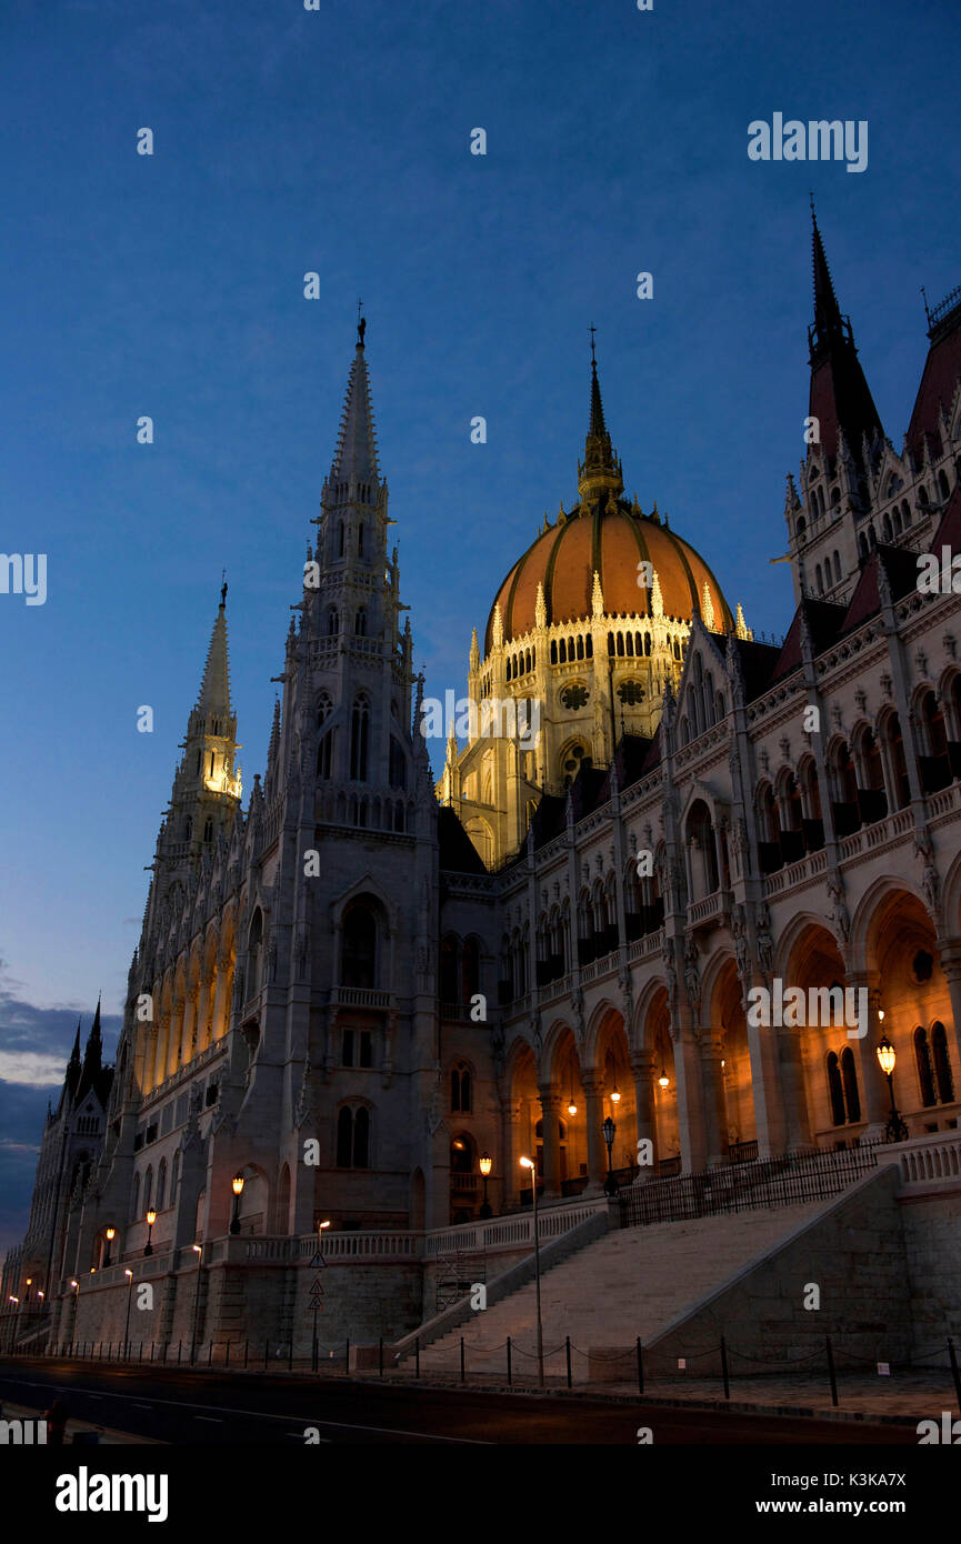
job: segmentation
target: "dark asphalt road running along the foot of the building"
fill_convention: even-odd
[[[655,1444],[749,1447],[779,1444],[915,1445],[913,1425],[748,1416],[612,1403],[590,1397],[490,1394],[371,1380],[104,1368],[68,1360],[0,1360],[0,1400],[45,1410],[59,1394],[79,1420],[176,1445],[321,1444],[595,1444],[637,1447],[638,1427]]]

